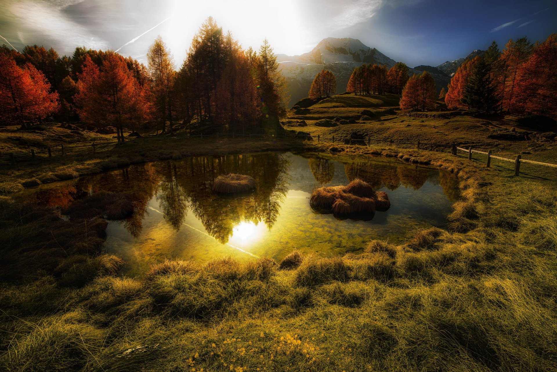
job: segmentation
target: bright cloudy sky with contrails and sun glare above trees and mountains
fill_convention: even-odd
[[[162,36],[179,67],[207,17],[243,47],[267,38],[300,55],[326,37],[353,37],[413,67],[437,66],[527,36],[557,32],[555,0],[0,0],[0,45],[118,50],[145,61]]]

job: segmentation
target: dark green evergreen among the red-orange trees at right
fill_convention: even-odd
[[[485,58],[480,58],[474,64],[462,103],[468,105],[468,110],[476,115],[490,115],[500,111],[500,101],[491,77],[491,66]]]

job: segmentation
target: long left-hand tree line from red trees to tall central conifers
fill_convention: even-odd
[[[174,131],[176,123],[204,131],[281,130],[286,82],[272,47],[244,50],[212,17],[199,28],[177,68],[157,37],[147,65],[113,51],[78,47],[72,56],[27,46],[22,53],[0,47],[0,120],[25,126],[54,115],[95,126],[140,123]],[[192,124],[192,125],[193,125]]]

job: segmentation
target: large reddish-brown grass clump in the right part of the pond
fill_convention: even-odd
[[[321,187],[311,194],[310,205],[320,212],[333,212],[338,216],[373,214],[390,207],[387,193],[375,192],[372,185],[358,178],[346,186]],[[330,212],[329,212],[330,211]]]

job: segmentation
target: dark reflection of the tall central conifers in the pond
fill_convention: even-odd
[[[189,207],[207,233],[221,243],[228,242],[240,222],[263,222],[270,229],[288,190],[288,161],[282,154],[197,157],[157,168],[162,176],[157,200],[165,219],[179,229]],[[214,193],[214,179],[228,173],[255,178],[256,190],[233,196]]]

